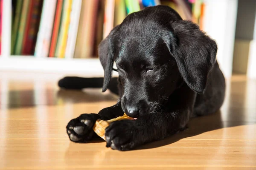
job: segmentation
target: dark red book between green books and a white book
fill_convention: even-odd
[[[29,7],[26,31],[24,34],[22,55],[33,55],[35,51],[35,42],[40,22],[43,0],[32,0]]]

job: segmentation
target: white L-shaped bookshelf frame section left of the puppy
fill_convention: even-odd
[[[102,65],[97,58],[90,59],[60,59],[41,58],[35,56],[11,55],[11,11],[12,1],[3,0],[2,54],[0,56],[0,71],[35,71],[67,74],[104,74]]]

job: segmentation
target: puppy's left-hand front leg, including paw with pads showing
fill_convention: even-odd
[[[102,109],[98,114],[81,114],[76,119],[70,120],[67,124],[67,134],[73,142],[88,142],[97,136],[92,129],[97,119],[109,120],[122,116],[123,114],[124,112],[122,111],[121,105],[118,103],[111,107]]]

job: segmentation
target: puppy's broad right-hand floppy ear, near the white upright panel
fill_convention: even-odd
[[[216,61],[216,42],[190,21],[174,21],[172,29],[176,43],[170,48],[180,74],[189,88],[204,93],[208,73]]]

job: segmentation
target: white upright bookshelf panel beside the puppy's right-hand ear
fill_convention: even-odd
[[[204,31],[218,44],[217,60],[226,78],[232,76],[238,0],[204,0]]]

